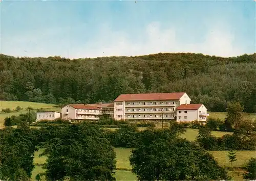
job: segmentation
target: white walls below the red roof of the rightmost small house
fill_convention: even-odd
[[[204,105],[201,105],[198,109],[182,109],[177,110],[177,121],[201,121],[206,122],[207,120],[207,109]]]

